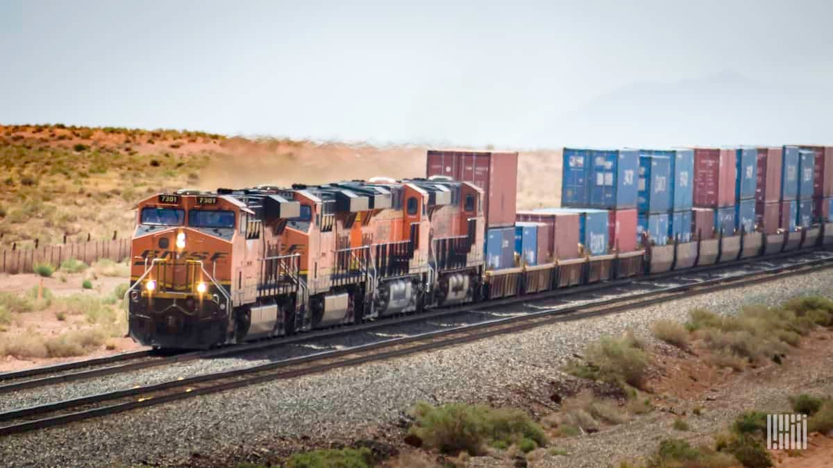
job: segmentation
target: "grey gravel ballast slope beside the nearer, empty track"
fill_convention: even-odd
[[[833,297],[833,271],[5,436],[0,438],[0,465],[169,465],[186,463],[193,454],[207,456],[241,446],[254,451],[279,437],[349,441],[373,427],[399,420],[416,401],[484,401],[506,386],[557,379],[561,365],[599,336],[620,334],[629,328],[648,336],[651,322],[663,318],[684,321],[693,308],[736,313],[745,304],[779,304],[793,296],[811,294]],[[197,373],[204,371],[210,370]],[[20,406],[9,404],[9,397],[0,399],[3,406]],[[38,400],[35,397],[28,403]],[[615,451],[615,447],[608,448]]]

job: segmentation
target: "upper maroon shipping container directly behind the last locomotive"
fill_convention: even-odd
[[[426,167],[427,177],[447,176],[481,187],[487,227],[515,224],[518,153],[429,150]]]

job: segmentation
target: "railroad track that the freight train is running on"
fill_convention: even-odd
[[[483,302],[475,305],[467,304],[463,306],[444,307],[418,315],[387,317],[383,320],[370,321],[359,325],[312,331],[310,333],[304,333],[302,335],[297,336],[277,337],[269,340],[257,341],[253,343],[244,343],[241,345],[229,346],[216,350],[188,351],[180,353],[168,352],[167,354],[151,350],[136,351],[132,353],[122,353],[114,356],[106,356],[84,361],[57,364],[54,366],[33,367],[32,369],[27,369],[24,371],[0,373],[0,395],[12,393],[15,391],[34,389],[42,386],[51,386],[72,381],[91,379],[95,377],[112,376],[131,371],[140,371],[143,369],[149,369],[157,366],[169,366],[177,363],[195,361],[197,359],[212,359],[218,357],[243,355],[248,352],[267,351],[280,346],[302,344],[305,342],[316,341],[321,338],[341,336],[345,333],[372,331],[374,329],[380,329],[387,326],[396,326],[414,321],[425,321],[426,319],[441,316],[450,316],[464,311],[488,310],[501,306],[511,306],[518,303],[540,301],[554,297],[567,298],[572,296],[586,296],[593,294],[595,291],[611,291],[615,290],[616,288],[623,288],[625,286],[632,286],[635,284],[645,284],[646,282],[657,281],[663,278],[673,276],[696,276],[697,274],[701,274],[703,272],[706,272],[709,275],[713,275],[716,274],[717,271],[731,271],[732,269],[736,269],[737,267],[755,263],[766,264],[770,261],[777,261],[782,258],[801,258],[801,256],[811,255],[816,251],[819,250],[811,248],[803,251],[791,251],[789,253],[781,253],[780,255],[776,256],[767,256],[766,258],[752,257],[741,261],[732,261],[722,263],[719,265],[691,268],[685,271],[667,271],[658,275],[631,277],[616,281],[606,281],[603,283],[594,283],[586,286],[572,287],[568,289],[546,291],[526,296],[514,296],[496,301]],[[124,363],[122,364],[122,362]],[[35,376],[36,378],[26,379],[26,377],[32,376]]]

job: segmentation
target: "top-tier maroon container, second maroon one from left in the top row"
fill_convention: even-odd
[[[694,206],[731,207],[735,204],[735,150],[694,149]]]

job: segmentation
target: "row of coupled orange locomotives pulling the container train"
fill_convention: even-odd
[[[476,301],[482,204],[480,188],[445,177],[147,198],[130,335],[206,348]]]

